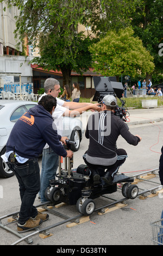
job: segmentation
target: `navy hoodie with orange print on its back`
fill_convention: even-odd
[[[15,123],[7,141],[7,152],[15,148],[18,156],[35,158],[47,143],[59,156],[66,157],[60,139],[52,115],[42,105],[36,105]]]

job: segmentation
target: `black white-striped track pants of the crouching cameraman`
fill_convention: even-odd
[[[86,152],[85,152],[85,154],[86,154]],[[112,180],[114,180],[114,175],[116,174],[116,172],[118,171],[120,166],[125,162],[125,160],[127,158],[127,153],[125,150],[123,150],[123,148],[118,148],[116,150],[116,153],[117,153],[117,160],[116,160],[115,164],[112,164],[112,165],[91,164],[91,163],[87,162],[85,158],[83,158],[83,159],[84,159],[84,162],[87,164],[87,166],[90,168],[90,170],[98,169],[99,175],[101,175],[103,172],[102,169],[104,169],[104,170],[107,169],[107,171],[109,171],[111,174]]]

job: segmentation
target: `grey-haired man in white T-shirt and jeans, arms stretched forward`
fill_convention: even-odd
[[[54,123],[57,126],[58,134],[61,135],[62,132],[62,119],[61,116],[76,117],[81,115],[84,111],[89,109],[101,111],[99,104],[91,103],[77,103],[77,102],[65,102],[62,99],[57,98],[60,91],[59,81],[54,78],[48,78],[44,84],[45,95],[52,95],[57,99],[57,107],[53,112]],[[41,96],[41,97],[42,97]],[[41,99],[39,98],[39,100]],[[70,110],[71,109],[71,110]],[[42,170],[41,170],[41,189],[39,192],[39,197],[41,198],[41,203],[45,203],[47,200],[45,198],[45,190],[49,186],[49,180],[55,178],[55,174],[58,169],[58,154],[56,154],[52,148],[47,144],[43,148],[42,152]]]

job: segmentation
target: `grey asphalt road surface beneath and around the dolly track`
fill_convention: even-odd
[[[160,150],[163,144],[163,122],[155,122],[154,119],[161,118],[163,116],[162,111],[163,109],[161,108],[143,110],[142,112],[139,110],[129,111],[130,120],[133,122],[137,117],[137,120],[148,118],[148,121],[152,120],[152,123],[149,121],[147,124],[134,125],[130,121],[130,132],[139,134],[142,137],[142,141],[136,147],[128,145],[123,138],[118,139],[117,146],[125,148],[128,153],[126,162],[121,166],[121,172],[132,176],[145,170],[158,168]],[[88,143],[89,141],[83,138],[79,151],[74,152],[74,168],[84,163],[82,155],[87,149]],[[158,176],[151,181],[160,183]],[[16,177],[0,179],[0,184],[1,188],[3,188],[3,198],[0,198],[0,216],[18,211],[20,195]],[[154,183],[144,181],[140,182],[138,186],[140,189],[149,189],[158,186],[158,184],[155,185]],[[120,189],[116,193],[109,195],[109,197],[114,200],[123,198]],[[111,199],[96,199],[96,207],[112,203]],[[47,239],[41,239],[39,235],[36,235],[33,237],[34,245],[96,245],[98,247],[105,245],[153,245],[150,223],[158,220],[161,216],[163,208],[162,198],[156,196],[141,200],[137,197],[134,200],[128,200],[127,203],[127,206],[102,216],[94,212],[90,216],[90,221],[75,227],[67,228],[66,224],[62,224],[52,228],[50,231],[53,235]],[[36,199],[35,205],[38,204],[40,204],[40,201]],[[78,215],[76,206],[63,206],[58,211],[70,217]],[[42,228],[62,221],[60,217],[54,216],[51,213],[49,215],[49,220],[42,224]],[[16,230],[16,223],[11,224],[10,227]],[[24,234],[27,235],[27,233]],[[18,238],[15,235],[1,229],[0,245],[10,245],[17,240]],[[27,245],[26,241],[21,242],[21,245]]]

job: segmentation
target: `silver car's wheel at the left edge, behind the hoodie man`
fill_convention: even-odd
[[[14,172],[11,171],[11,169],[9,168],[7,163],[5,163],[1,157],[5,153],[5,151],[6,151],[6,149],[4,147],[0,153],[0,177],[1,178],[10,178],[14,175]]]

